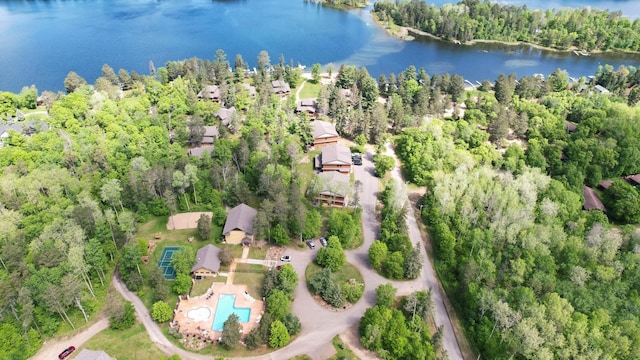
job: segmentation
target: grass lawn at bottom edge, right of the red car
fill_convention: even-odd
[[[127,330],[106,329],[87,341],[81,349],[104,350],[118,360],[157,360],[167,357],[151,342],[144,326],[137,323]]]

